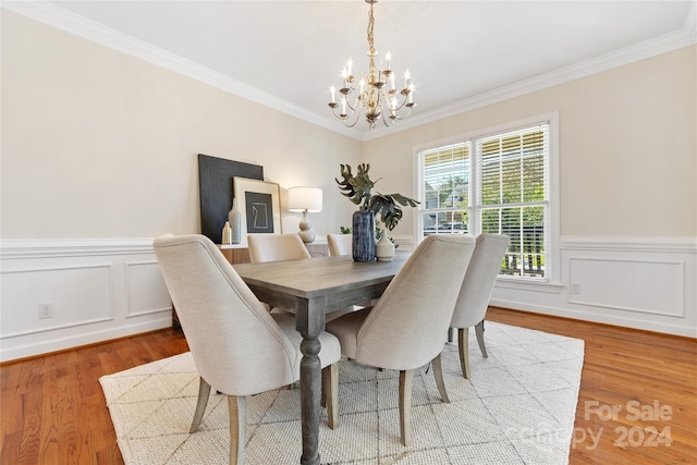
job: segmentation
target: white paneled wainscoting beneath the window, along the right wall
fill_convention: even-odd
[[[559,266],[548,292],[502,284],[491,304],[697,338],[697,238],[562,237]]]

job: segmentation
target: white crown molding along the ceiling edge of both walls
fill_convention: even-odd
[[[565,66],[549,73],[540,74],[515,84],[499,87],[477,96],[460,100],[457,102],[414,114],[408,120],[400,122],[399,126],[391,129],[377,129],[362,131],[345,127],[333,119],[319,115],[315,112],[301,108],[288,100],[276,97],[256,87],[249,86],[237,79],[233,79],[221,73],[201,66],[191,60],[168,52],[159,47],[135,39],[126,34],[109,28],[100,23],[74,14],[68,10],[49,3],[39,1],[2,0],[1,7],[14,13],[30,17],[38,22],[48,24],[70,34],[83,37],[87,40],[112,48],[132,57],[145,60],[158,66],[168,69],[175,73],[183,74],[196,81],[220,88],[221,90],[234,94],[239,97],[269,107],[273,110],[290,114],[301,120],[316,124],[326,130],[343,134],[345,136],[370,140],[393,134],[395,132],[413,129],[421,124],[431,123],[443,118],[453,117],[466,111],[472,111],[491,103],[508,100],[547,87],[588,76],[590,74],[622,66],[638,60],[644,60],[657,54],[676,50],[697,42],[697,0],[690,2],[690,7],[685,17],[683,27],[680,30],[665,34],[663,36],[649,39],[610,53],[602,54],[580,63]]]

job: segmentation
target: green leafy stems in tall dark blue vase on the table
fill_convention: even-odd
[[[352,217],[353,243],[352,254],[355,261],[372,261],[376,258],[375,219],[392,231],[402,219],[400,206],[416,207],[419,201],[402,194],[380,194],[372,192],[375,184],[368,174],[370,164],[362,163],[356,167],[354,175],[351,166],[341,164],[342,180],[334,179],[341,194],[358,206]],[[386,241],[387,232],[383,234]],[[391,243],[389,243],[391,245]]]

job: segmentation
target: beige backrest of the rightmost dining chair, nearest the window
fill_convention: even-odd
[[[451,328],[469,328],[484,319],[508,246],[508,235],[477,236],[475,253],[472,255],[450,322]]]

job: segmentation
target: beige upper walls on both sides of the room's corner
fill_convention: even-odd
[[[367,161],[378,191],[413,195],[415,146],[549,111],[560,114],[562,235],[697,236],[696,54],[360,143],[3,11],[1,236],[198,231],[198,152],[261,164],[282,187],[322,187],[310,220],[326,234],[353,210],[339,163]],[[283,215],[294,231],[297,215]],[[409,235],[411,219],[394,233]]]

